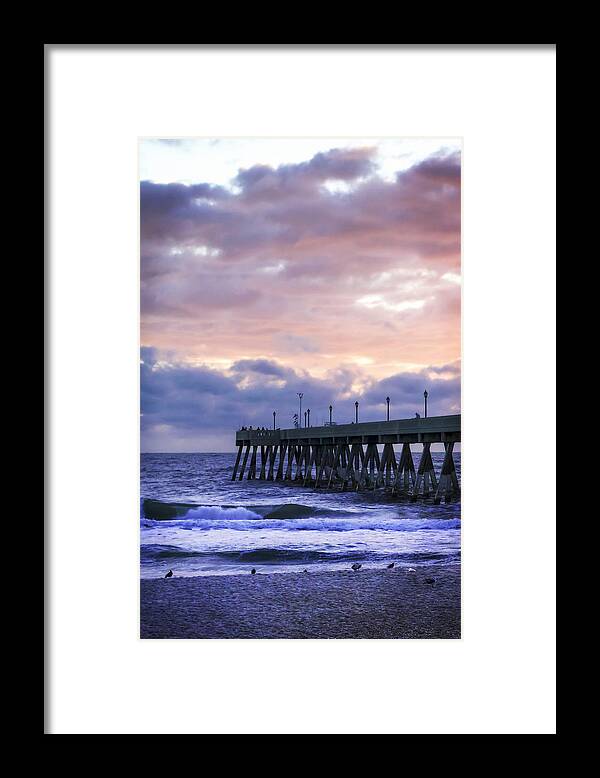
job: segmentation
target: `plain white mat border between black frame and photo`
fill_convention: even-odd
[[[554,732],[554,50],[47,66],[48,731]],[[141,641],[137,139],[350,134],[464,138],[463,638]]]

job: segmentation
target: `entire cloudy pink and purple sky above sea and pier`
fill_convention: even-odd
[[[141,140],[141,450],[459,413],[460,148]]]

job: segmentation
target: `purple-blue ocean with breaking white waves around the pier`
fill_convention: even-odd
[[[460,502],[433,505],[378,492],[231,481],[235,454],[142,454],[141,577],[218,576],[460,564]],[[432,453],[439,476],[443,453]],[[413,452],[418,467],[419,454]],[[460,481],[460,453],[454,454]],[[152,500],[153,510],[149,509]],[[156,505],[179,515],[150,518]],[[264,518],[283,504],[309,510]],[[160,507],[160,506],[159,506]]]

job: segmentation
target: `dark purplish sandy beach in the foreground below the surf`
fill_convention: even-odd
[[[142,638],[460,638],[460,565],[140,583]]]

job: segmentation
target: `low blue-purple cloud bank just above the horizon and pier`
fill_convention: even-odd
[[[167,355],[169,356],[169,355]],[[385,398],[390,396],[392,418],[412,417],[422,406],[423,390],[429,392],[432,415],[460,409],[460,376],[456,365],[433,366],[416,373],[398,373],[372,381],[360,368],[345,366],[323,379],[272,360],[240,360],[220,371],[182,362],[170,362],[158,349],[142,349],[141,423],[142,450],[213,450],[234,447],[240,425],[291,427],[298,409],[297,392],[304,393],[303,409],[311,409],[311,423],[333,418],[339,423],[354,418],[354,401],[360,403],[361,421],[385,417]],[[363,391],[354,387],[363,382]]]

